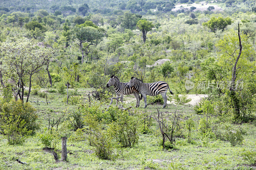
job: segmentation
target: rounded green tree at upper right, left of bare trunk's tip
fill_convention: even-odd
[[[212,17],[209,21],[204,22],[202,25],[211,29],[213,33],[216,33],[217,30],[224,31],[224,29],[232,23],[230,18],[222,17]]]

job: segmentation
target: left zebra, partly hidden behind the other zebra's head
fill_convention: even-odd
[[[119,78],[117,78],[115,75],[112,75],[107,83],[107,87],[110,87],[111,85],[114,86],[116,96],[119,97],[121,96],[121,102],[123,102],[123,97],[124,95],[129,95],[133,94],[134,97],[136,98],[136,106],[140,106],[140,93],[138,90],[136,90],[134,87],[128,88],[128,83],[123,83],[119,81]],[[116,106],[117,106],[118,100],[116,100]]]

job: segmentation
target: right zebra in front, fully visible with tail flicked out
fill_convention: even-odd
[[[128,88],[132,88],[132,87],[135,87],[135,89],[137,89],[140,92],[140,94],[143,96],[143,99],[145,102],[144,108],[148,106],[147,95],[156,96],[161,93],[164,99],[164,106],[163,106],[164,108],[166,107],[166,102],[167,102],[167,96],[166,96],[167,90],[169,89],[170,93],[173,94],[172,91],[170,90],[169,85],[164,81],[158,81],[154,83],[143,83],[140,79],[136,77],[132,77],[129,82]]]

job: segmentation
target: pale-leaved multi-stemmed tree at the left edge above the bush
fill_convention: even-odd
[[[0,44],[3,57],[1,59],[0,74],[10,78],[16,87],[12,86],[15,100],[18,95],[23,101],[24,87],[28,80],[28,96],[31,91],[33,74],[42,71],[52,57],[52,49],[38,48],[26,39],[12,39]],[[1,82],[2,76],[0,76]],[[20,93],[21,92],[21,93]]]

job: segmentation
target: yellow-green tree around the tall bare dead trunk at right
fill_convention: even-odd
[[[246,106],[241,108],[244,101],[252,100],[251,97],[255,94],[255,87],[250,84],[255,80],[256,67],[255,63],[248,59],[249,56],[255,55],[255,51],[244,34],[241,34],[241,45],[240,53],[239,37],[234,33],[225,35],[216,43],[218,56],[210,57],[201,64],[206,78],[223,82],[219,91],[227,92],[231,98],[227,102],[232,103],[235,118],[240,117],[240,112],[246,110]],[[241,82],[244,87],[239,87]]]

